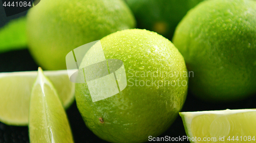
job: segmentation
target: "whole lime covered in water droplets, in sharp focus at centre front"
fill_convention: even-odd
[[[110,142],[145,142],[148,136],[160,135],[169,128],[181,110],[187,94],[187,85],[178,86],[177,83],[173,87],[168,86],[166,81],[162,87],[157,87],[157,83],[153,86],[140,86],[137,81],[136,87],[135,78],[146,81],[152,80],[153,75],[131,77],[132,72],[146,73],[158,69],[168,73],[182,72],[183,75],[183,71],[187,72],[187,69],[182,55],[172,42],[146,30],[124,30],[100,41],[106,59],[123,61],[127,87],[119,94],[92,102],[87,84],[76,83],[77,107],[87,127],[100,138]],[[152,46],[156,47],[155,50],[152,50]],[[90,52],[91,50],[87,53],[89,58],[93,56]],[[81,64],[80,67],[84,65]],[[137,76],[142,74],[138,73]],[[188,77],[180,75],[153,77],[159,82],[164,78],[176,82],[178,79],[186,82],[188,80]],[[102,118],[104,123],[101,123],[99,118]]]

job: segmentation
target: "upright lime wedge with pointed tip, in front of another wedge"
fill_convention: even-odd
[[[74,142],[69,121],[57,91],[38,68],[29,107],[30,142]]]

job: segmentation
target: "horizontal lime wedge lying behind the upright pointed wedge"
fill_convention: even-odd
[[[0,121],[7,125],[26,126],[29,100],[37,71],[0,73]],[[74,101],[75,84],[67,70],[45,71],[53,82],[65,108]]]

